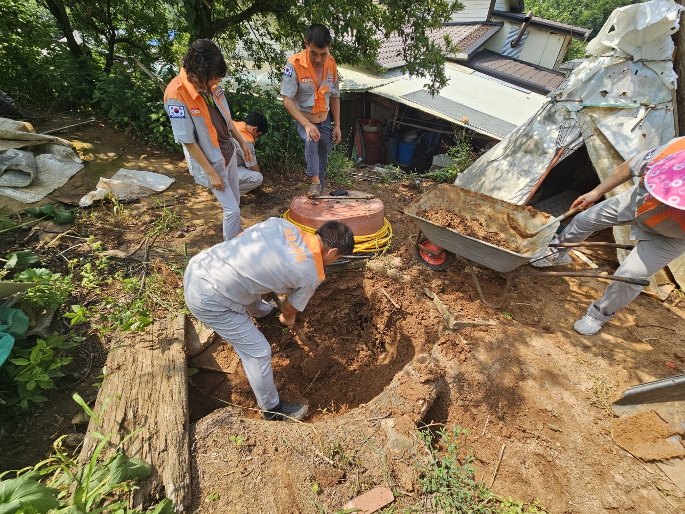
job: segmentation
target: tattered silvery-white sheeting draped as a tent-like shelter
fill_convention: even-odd
[[[549,106],[476,160],[454,183],[524,204],[551,162],[559,126],[569,119],[580,122],[601,179],[623,160],[673,138],[677,77],[671,34],[680,28],[683,9],[673,0],[651,0],[614,10],[588,43],[590,58],[550,95]],[[614,237],[627,243],[620,227]],[[623,260],[620,252],[619,259]],[[670,269],[684,287],[685,256]],[[665,294],[650,289],[660,297]]]

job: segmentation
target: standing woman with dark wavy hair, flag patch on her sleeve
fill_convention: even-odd
[[[164,107],[176,143],[183,145],[188,171],[197,184],[208,187],[223,210],[223,240],[242,232],[238,164],[233,144],[249,152],[234,126],[219,81],[226,61],[210,39],[190,45],[181,60],[181,73],[164,92]]]

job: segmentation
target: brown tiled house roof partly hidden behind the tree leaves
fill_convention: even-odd
[[[448,34],[452,42],[461,49],[455,58],[468,59],[471,53],[480,49],[488,39],[494,36],[503,23],[446,23],[441,29],[429,34],[430,40],[442,42],[443,36]],[[404,64],[402,49],[404,43],[399,36],[392,36],[385,40],[378,50],[378,64],[388,69],[397,68]]]

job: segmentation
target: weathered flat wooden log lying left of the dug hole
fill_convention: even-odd
[[[145,510],[161,498],[171,499],[176,511],[190,506],[190,443],[188,431],[188,368],[186,365],[185,316],[155,321],[145,332],[122,332],[109,352],[106,374],[93,411],[99,415],[109,403],[100,426],[88,424],[80,462],[86,463],[100,442],[93,437],[114,434],[103,458],[123,443],[129,457],[152,465],[151,475],[136,482],[129,504]],[[119,400],[117,397],[121,398]]]

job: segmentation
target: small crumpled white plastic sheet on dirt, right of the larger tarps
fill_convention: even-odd
[[[84,196],[79,201],[79,205],[82,207],[92,205],[93,202],[103,199],[109,193],[113,193],[120,200],[153,195],[164,191],[174,181],[175,179],[161,173],[121,168],[112,175],[112,178],[101,178],[95,191],[90,191]]]

